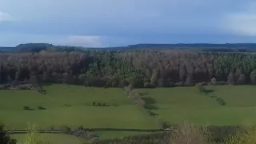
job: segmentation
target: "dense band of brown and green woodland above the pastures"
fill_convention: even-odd
[[[256,84],[256,54],[185,50],[85,50],[0,54],[0,82],[85,86],[192,86],[197,82]]]

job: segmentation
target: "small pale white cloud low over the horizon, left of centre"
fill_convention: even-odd
[[[71,45],[71,46],[101,47],[102,37],[71,35],[67,38],[67,41],[65,43],[66,45]]]

